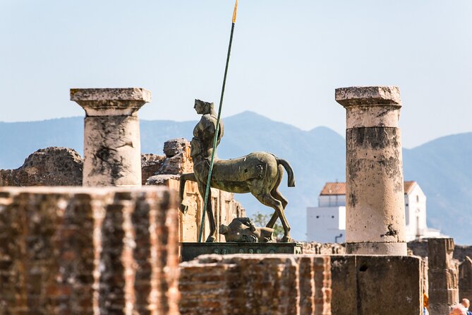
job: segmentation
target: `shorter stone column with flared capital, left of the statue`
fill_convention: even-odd
[[[83,186],[141,186],[138,109],[143,88],[71,89],[85,109]]]

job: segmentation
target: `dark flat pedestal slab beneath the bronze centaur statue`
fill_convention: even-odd
[[[206,254],[303,254],[299,243],[181,243],[181,261]]]

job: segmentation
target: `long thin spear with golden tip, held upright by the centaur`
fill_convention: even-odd
[[[210,162],[210,170],[208,171],[207,187],[205,189],[205,202],[203,203],[202,222],[200,222],[200,232],[198,233],[198,242],[199,243],[202,242],[203,226],[205,225],[205,212],[207,210],[208,194],[210,193],[210,182],[211,182],[211,179],[212,179],[214,153],[217,150],[217,139],[218,139],[218,133],[219,133],[219,119],[222,116],[224,87],[226,85],[226,74],[228,73],[229,56],[231,55],[231,44],[233,43],[234,24],[236,23],[236,11],[238,11],[238,0],[236,0],[236,3],[234,4],[233,20],[232,20],[232,23],[231,23],[231,35],[229,35],[228,55],[226,56],[226,66],[224,67],[222,95],[221,95],[221,97],[219,97],[217,128],[214,131],[212,160]]]

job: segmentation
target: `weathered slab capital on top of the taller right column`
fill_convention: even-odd
[[[337,88],[335,100],[344,107],[369,105],[401,107],[400,90],[393,85]]]

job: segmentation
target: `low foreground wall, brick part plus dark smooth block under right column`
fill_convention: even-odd
[[[180,311],[420,315],[422,272],[414,256],[205,255],[181,263]]]

